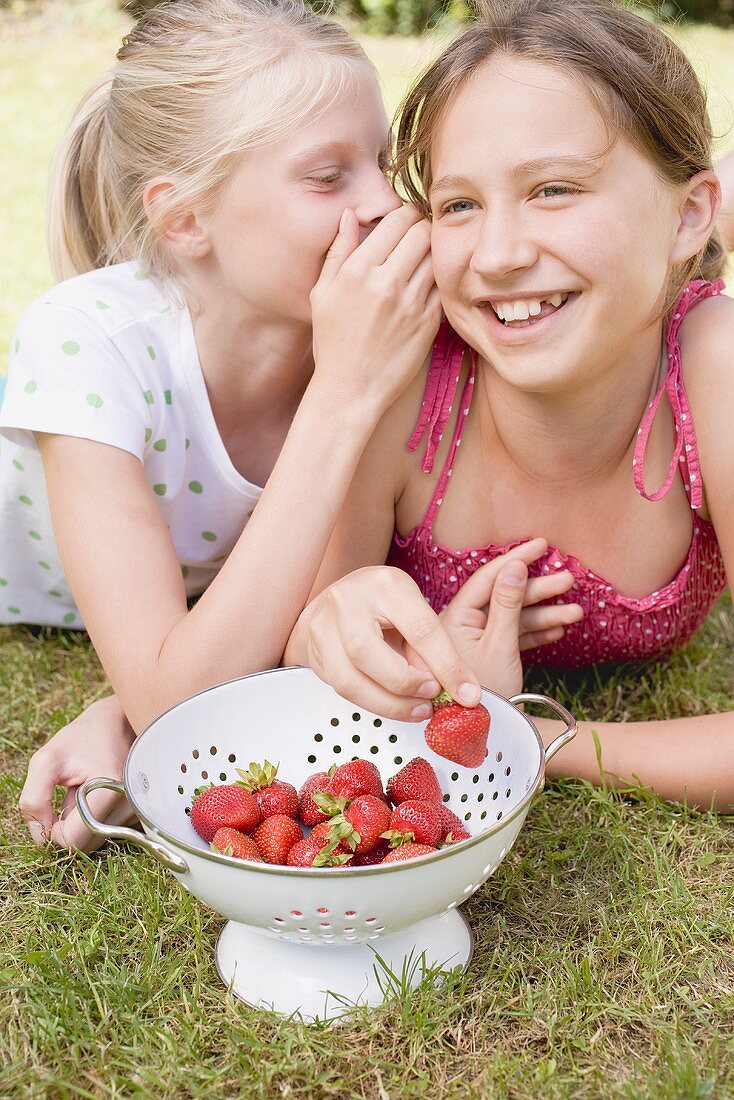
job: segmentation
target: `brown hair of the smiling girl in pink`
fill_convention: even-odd
[[[654,23],[614,0],[475,0],[475,7],[480,20],[429,66],[401,110],[396,174],[426,217],[437,129],[458,91],[499,54],[558,65],[580,78],[612,134],[632,141],[664,180],[682,184],[712,167],[705,92],[683,52]],[[714,233],[675,270],[669,299],[693,277],[717,278],[724,263]]]

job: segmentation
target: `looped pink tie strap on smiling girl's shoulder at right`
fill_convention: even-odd
[[[680,366],[679,333],[683,317],[689,309],[692,309],[693,306],[705,298],[721,294],[723,289],[724,283],[722,279],[717,279],[715,283],[706,283],[705,279],[693,279],[693,282],[688,284],[673,307],[666,336],[668,373],[645,410],[645,415],[637,429],[635,454],[632,460],[635,488],[646,501],[659,501],[664,497],[672,485],[676,470],[680,468],[683,486],[691,503],[691,508],[700,508],[703,504],[703,487],[701,485],[701,468],[695,443],[695,431],[693,430],[691,408],[688,403]],[[650,436],[653,420],[655,419],[655,414],[664,393],[668,395],[670,408],[672,409],[676,446],[662,485],[655,492],[648,493],[645,488],[645,450]]]

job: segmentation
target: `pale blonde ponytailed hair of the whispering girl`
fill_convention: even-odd
[[[58,278],[131,258],[172,277],[143,209],[145,184],[175,179],[162,219],[216,201],[241,153],[287,136],[358,67],[371,68],[303,0],[173,0],[144,15],[117,56],[56,158],[48,246]]]

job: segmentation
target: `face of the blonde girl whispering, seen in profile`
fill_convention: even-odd
[[[372,72],[314,121],[242,155],[207,220],[222,290],[271,320],[310,323],[309,294],[343,210],[365,237],[401,200],[387,183],[388,125]]]

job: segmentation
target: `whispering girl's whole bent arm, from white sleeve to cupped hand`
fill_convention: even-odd
[[[41,439],[62,562],[136,729],[194,691],[277,663],[362,449],[430,345],[440,307],[428,227],[403,208],[358,240],[352,215],[313,295],[311,384],[251,521],[191,612],[140,461]]]

